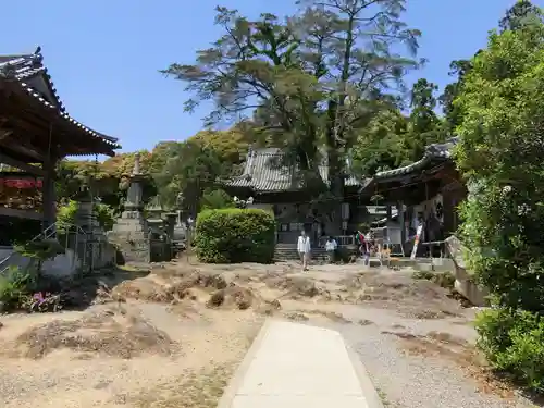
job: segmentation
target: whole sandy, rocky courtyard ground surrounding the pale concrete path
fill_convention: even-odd
[[[475,351],[477,310],[416,277],[186,260],[96,276],[81,311],[0,318],[0,406],[214,407],[267,317],[341,331],[387,407],[535,406]]]

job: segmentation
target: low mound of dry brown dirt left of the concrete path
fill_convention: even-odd
[[[16,338],[9,354],[39,359],[67,348],[131,359],[145,353],[168,356],[174,343],[166,333],[124,309],[106,310],[75,321],[54,320],[32,327]]]

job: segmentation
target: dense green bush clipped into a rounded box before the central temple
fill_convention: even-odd
[[[274,215],[257,209],[205,210],[198,214],[194,243],[202,262],[270,263],[274,257]]]

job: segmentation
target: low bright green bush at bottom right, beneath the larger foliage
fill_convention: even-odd
[[[478,346],[496,370],[508,372],[533,391],[544,388],[544,320],[505,308],[481,312]]]

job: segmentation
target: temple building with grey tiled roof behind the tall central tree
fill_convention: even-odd
[[[247,153],[242,175],[224,183],[225,190],[240,199],[252,198],[251,207],[269,209],[277,221],[276,240],[279,244],[294,244],[304,228],[313,242],[325,239],[333,223],[342,223],[343,234],[339,244],[353,239],[353,232],[367,214],[366,206],[359,201],[361,182],[350,173],[350,161],[346,160],[342,220],[335,220],[326,210],[326,202],[312,200],[310,191],[304,187],[299,171],[295,165],[286,165],[284,153],[279,148],[250,149]],[[329,166],[323,160],[319,173],[329,184]]]

